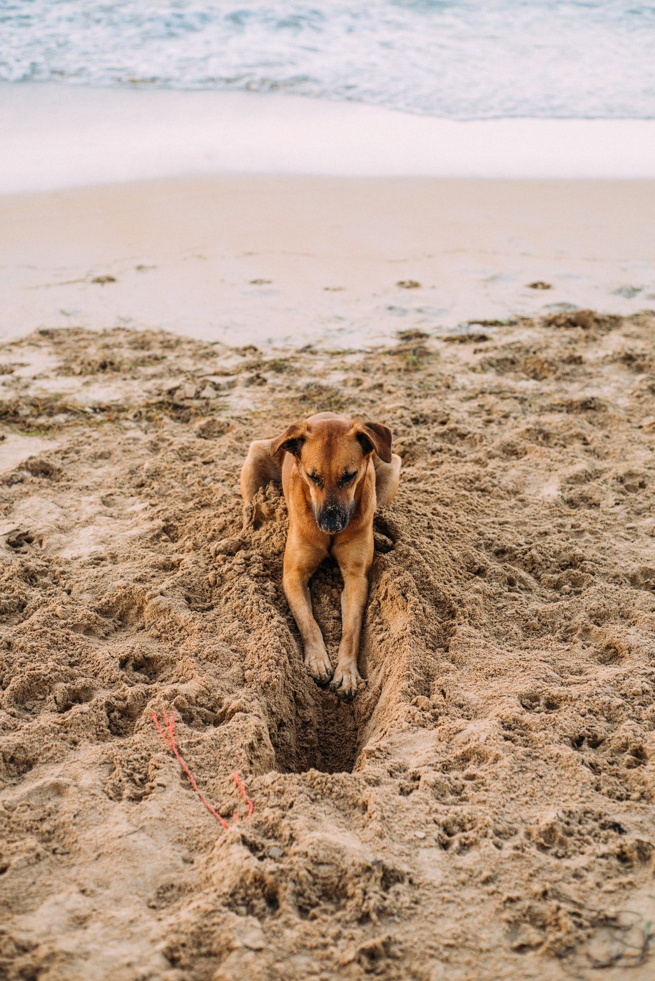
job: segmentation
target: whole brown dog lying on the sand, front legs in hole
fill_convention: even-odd
[[[282,481],[289,509],[284,590],[314,680],[353,697],[359,675],[357,651],[373,560],[373,514],[398,490],[401,458],[391,452],[391,430],[321,412],[290,426],[277,439],[250,444],[241,473],[248,503],[271,480]],[[327,555],[344,578],[342,638],[332,669],[311,610],[308,583]]]

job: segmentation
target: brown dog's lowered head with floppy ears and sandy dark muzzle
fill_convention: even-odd
[[[391,430],[381,423],[360,423],[325,412],[273,439],[271,454],[280,449],[296,457],[316,524],[326,535],[336,535],[353,517],[355,490],[371,453],[391,462]]]

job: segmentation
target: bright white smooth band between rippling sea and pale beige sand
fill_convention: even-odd
[[[246,92],[0,83],[0,140],[0,193],[248,173],[655,177],[655,120],[462,122]]]

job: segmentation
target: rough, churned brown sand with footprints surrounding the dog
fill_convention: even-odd
[[[5,345],[2,977],[652,978],[654,331]],[[404,459],[350,705],[302,666],[279,489],[244,527],[237,490],[248,440],[320,408]],[[321,569],[332,651],[339,591]],[[164,707],[249,823],[203,809]]]

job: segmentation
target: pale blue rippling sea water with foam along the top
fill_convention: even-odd
[[[0,80],[284,90],[450,119],[655,118],[638,0],[0,0]]]

